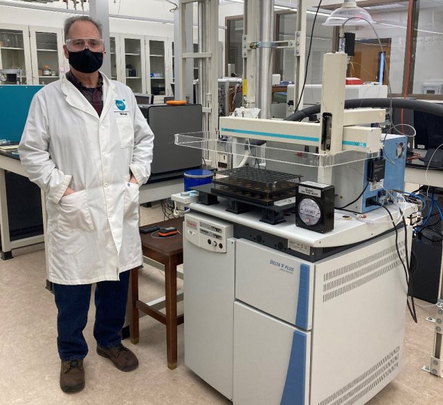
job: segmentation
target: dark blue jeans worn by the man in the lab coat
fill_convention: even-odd
[[[120,273],[120,281],[100,281],[96,286],[96,322],[94,337],[101,348],[121,342],[125,323],[129,273]],[[91,285],[54,284],[57,305],[57,348],[62,360],[83,359],[88,353],[83,330],[87,324]]]

